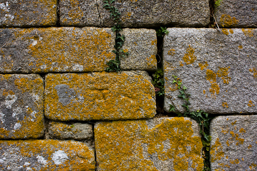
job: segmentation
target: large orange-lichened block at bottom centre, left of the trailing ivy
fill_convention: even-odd
[[[97,170],[202,170],[198,124],[159,118],[95,124]]]

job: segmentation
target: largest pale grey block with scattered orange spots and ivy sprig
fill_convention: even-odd
[[[164,38],[165,110],[184,112],[172,84],[178,76],[191,110],[257,112],[257,29],[169,28]]]

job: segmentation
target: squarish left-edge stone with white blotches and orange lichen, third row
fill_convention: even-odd
[[[0,75],[0,139],[43,136],[43,90],[39,75]]]

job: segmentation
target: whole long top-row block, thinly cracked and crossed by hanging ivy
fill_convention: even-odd
[[[98,26],[100,23],[102,27],[112,27],[114,24],[113,19],[110,19],[110,12],[103,8],[102,0],[86,3],[81,0],[61,0],[60,5],[60,23],[65,26]],[[210,23],[208,0],[117,0],[114,6],[121,13],[123,27],[203,27]]]

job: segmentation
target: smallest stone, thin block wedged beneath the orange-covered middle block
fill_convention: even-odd
[[[88,140],[93,138],[92,125],[82,123],[50,122],[48,133],[50,138],[58,139]]]

